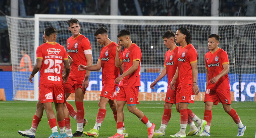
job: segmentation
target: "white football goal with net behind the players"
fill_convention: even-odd
[[[164,67],[164,55],[168,50],[163,45],[162,35],[167,30],[176,32],[180,27],[187,28],[192,36],[191,43],[198,53],[198,86],[205,91],[206,69],[204,55],[208,50],[208,35],[221,36],[219,47],[227,51],[230,67],[230,89],[234,101],[254,101],[256,92],[256,20],[249,17],[148,17],[148,16],[95,16],[95,15],[41,15],[35,18],[14,18],[7,16],[13,65],[13,99],[37,100],[38,75],[34,83],[28,78],[31,72],[17,71],[25,48],[35,64],[36,47],[43,43],[44,29],[53,26],[57,30],[57,42],[66,48],[67,39],[72,36],[67,20],[77,18],[81,25],[80,33],[91,43],[93,64],[97,63],[100,49],[94,32],[104,26],[109,38],[118,42],[117,34],[122,29],[131,32],[131,40],[142,51],[140,92],[166,92],[167,77],[161,79],[155,89],[150,84]],[[92,71],[88,91],[101,91],[101,70]],[[240,91],[240,93],[239,93]],[[31,97],[33,95],[33,98]],[[34,96],[35,95],[35,96]],[[203,99],[201,99],[203,100]]]

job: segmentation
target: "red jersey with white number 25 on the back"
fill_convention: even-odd
[[[63,60],[68,60],[64,46],[56,42],[46,42],[37,47],[37,58],[43,59],[39,84],[62,85]]]

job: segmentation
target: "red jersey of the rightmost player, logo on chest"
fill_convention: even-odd
[[[228,74],[219,78],[217,83],[211,84],[210,79],[220,74],[223,65],[229,64],[227,52],[219,48],[216,52],[209,51],[205,54],[205,67],[209,72],[208,88],[212,90],[227,90],[229,87]]]

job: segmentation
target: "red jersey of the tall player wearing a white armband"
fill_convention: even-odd
[[[88,49],[91,49],[90,41],[83,35],[79,35],[75,38],[71,36],[67,39],[67,52],[73,59],[69,77],[72,77],[75,80],[84,80],[86,70],[78,71],[78,66],[80,64],[87,65],[84,51]]]

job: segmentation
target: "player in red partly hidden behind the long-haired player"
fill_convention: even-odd
[[[172,78],[175,74],[175,71],[178,66],[178,61],[175,60],[177,53],[178,53],[178,46],[175,44],[174,39],[175,33],[168,30],[163,35],[164,45],[169,50],[165,53],[165,64],[164,68],[159,74],[159,76],[156,78],[154,82],[151,83],[150,88],[154,89],[154,86],[157,84],[159,80],[161,80],[166,74],[168,79],[168,87],[165,97],[165,103],[164,103],[164,114],[161,121],[161,126],[159,130],[156,130],[154,132],[154,136],[164,136],[165,135],[165,129],[166,126],[171,118],[171,112],[172,112],[172,105],[176,104],[175,97],[176,97],[176,90],[172,90],[169,88],[169,84],[172,81]],[[176,87],[178,86],[178,81],[176,81]],[[179,104],[176,104],[176,108],[179,110]]]

